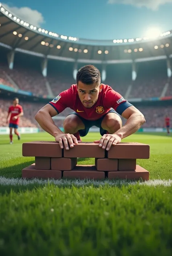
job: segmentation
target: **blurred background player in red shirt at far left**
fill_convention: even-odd
[[[22,106],[19,105],[19,99],[14,98],[13,99],[13,105],[9,106],[8,108],[8,117],[11,114],[10,120],[9,120],[9,130],[10,130],[10,144],[13,143],[13,135],[12,135],[12,130],[14,128],[14,132],[17,135],[18,139],[20,140],[20,134],[18,132],[18,127],[19,127],[19,119],[23,115],[23,109]],[[8,117],[7,117],[7,124],[8,124]]]

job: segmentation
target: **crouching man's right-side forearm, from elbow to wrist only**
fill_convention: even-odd
[[[144,116],[140,114],[132,114],[126,124],[120,128],[118,131],[115,132],[121,139],[130,136],[131,134],[135,133],[139,130],[139,128],[145,122]]]

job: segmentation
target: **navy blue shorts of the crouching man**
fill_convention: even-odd
[[[109,110],[105,115],[107,115],[108,113],[115,113],[117,115],[119,115],[114,109],[111,109]],[[105,117],[105,115],[103,115],[101,118],[97,119],[97,120],[87,120],[83,117],[81,117],[78,113],[76,113],[75,111],[73,111],[72,113],[70,113],[69,115],[71,114],[74,114],[74,115],[77,115],[81,121],[83,122],[83,124],[85,125],[85,129],[83,130],[79,130],[79,135],[81,137],[84,137],[87,135],[87,133],[89,132],[90,128],[92,126],[96,126],[98,128],[100,128],[100,134],[103,136],[104,134],[106,134],[106,130],[104,130],[102,127],[101,127],[101,124],[102,124],[102,121],[103,121],[103,118]]]

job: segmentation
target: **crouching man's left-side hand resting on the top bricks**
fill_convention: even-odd
[[[73,143],[78,144],[78,142],[80,142],[77,140],[77,138],[73,134],[69,134],[69,133],[66,133],[66,134],[60,133],[55,137],[55,140],[59,142],[61,149],[63,149],[65,146],[65,149],[67,150],[69,149],[69,146],[70,147],[74,146]],[[63,143],[64,143],[64,146],[63,146]]]

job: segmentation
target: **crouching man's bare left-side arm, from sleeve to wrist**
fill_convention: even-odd
[[[50,105],[47,104],[42,109],[40,109],[35,115],[34,119],[39,123],[39,125],[52,135],[54,138],[62,133],[62,131],[54,124],[52,117],[57,115],[57,111]]]

